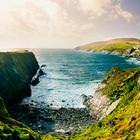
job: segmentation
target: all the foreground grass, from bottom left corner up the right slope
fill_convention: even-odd
[[[91,124],[69,138],[52,134],[43,140],[93,140],[93,139],[139,139],[140,138],[140,68],[131,70],[113,69],[105,79],[106,87],[102,92],[112,101],[121,99],[119,106],[103,120]],[[7,116],[0,104],[0,139],[40,140],[41,136],[25,125]],[[3,113],[1,113],[3,112]],[[1,115],[4,114],[4,115]]]

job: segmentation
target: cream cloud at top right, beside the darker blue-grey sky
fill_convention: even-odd
[[[131,22],[134,16],[131,12],[121,8],[121,0],[79,0],[79,9],[89,18],[95,19],[101,16],[112,17],[117,20],[120,17],[126,22]]]

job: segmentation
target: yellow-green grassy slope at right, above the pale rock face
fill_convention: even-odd
[[[112,140],[140,138],[140,68],[122,71],[113,69],[102,89],[112,101],[121,98],[119,106],[105,119],[73,134],[71,140]]]

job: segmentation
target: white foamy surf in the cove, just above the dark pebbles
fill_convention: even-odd
[[[44,107],[49,105],[52,108],[83,108],[85,106],[83,105],[83,97],[81,95],[93,95],[99,83],[99,80],[95,80],[85,85],[68,85],[67,89],[66,87],[63,89],[63,86],[58,88],[60,83],[49,82],[46,77],[42,77],[41,82],[37,86],[31,87],[32,97],[25,98],[23,103],[37,101]]]

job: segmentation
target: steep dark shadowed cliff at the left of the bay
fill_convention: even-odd
[[[0,96],[6,104],[31,94],[30,82],[38,68],[32,52],[0,53]]]

